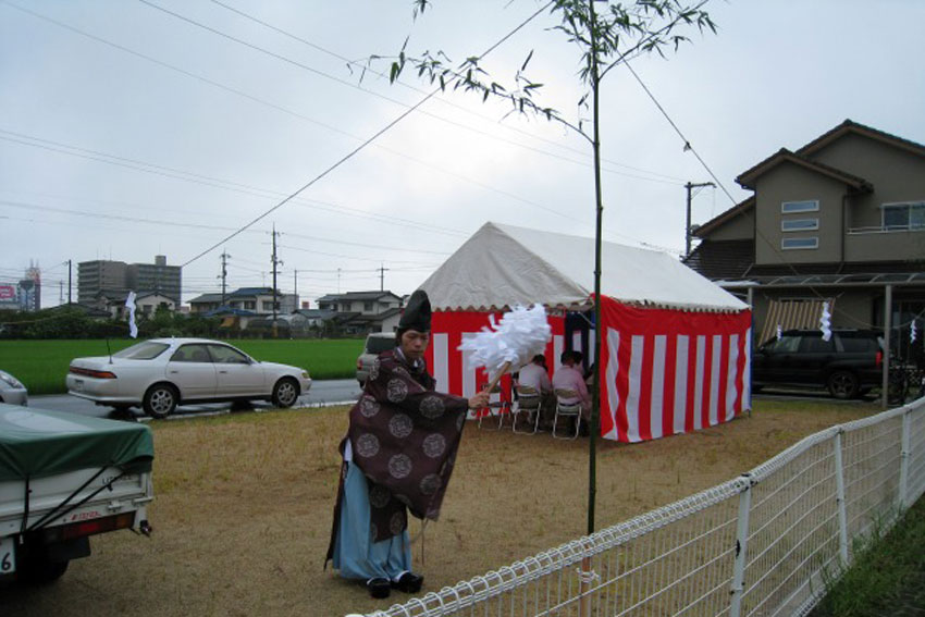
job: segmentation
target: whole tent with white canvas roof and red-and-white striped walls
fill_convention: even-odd
[[[600,361],[607,439],[694,431],[750,406],[748,305],[664,252],[603,245],[599,359],[581,348],[590,321],[578,320],[581,332],[566,324],[566,311],[592,305],[591,238],[486,223],[421,288],[434,309],[428,363],[442,392],[471,396],[484,385],[459,345],[488,325],[486,313],[539,303],[553,309],[545,350],[553,371],[565,349]]]

